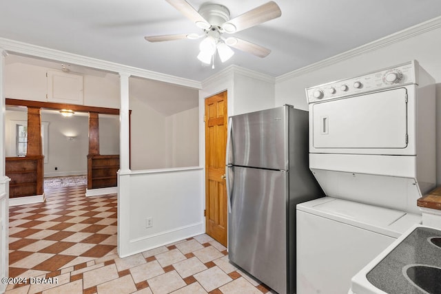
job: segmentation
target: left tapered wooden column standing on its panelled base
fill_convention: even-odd
[[[26,156],[42,156],[41,110],[40,107],[28,107],[28,149]]]

